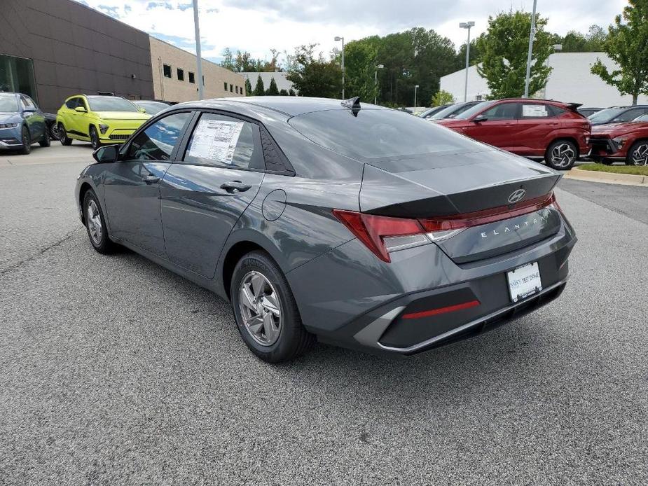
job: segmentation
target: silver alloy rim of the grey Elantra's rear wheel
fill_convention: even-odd
[[[281,303],[275,286],[261,272],[248,272],[239,287],[243,324],[262,346],[277,342],[282,328]]]

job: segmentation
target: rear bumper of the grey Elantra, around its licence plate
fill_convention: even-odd
[[[530,247],[459,265],[436,244],[376,263],[352,240],[287,277],[304,325],[322,342],[411,355],[488,331],[557,298],[576,241],[565,222],[556,235]],[[361,263],[363,250],[368,258]],[[513,303],[506,272],[532,262],[538,263],[542,290]]]

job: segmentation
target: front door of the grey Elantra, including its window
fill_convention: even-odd
[[[191,111],[170,113],[149,123],[104,171],[104,204],[111,236],[164,257],[160,181],[177,153]]]

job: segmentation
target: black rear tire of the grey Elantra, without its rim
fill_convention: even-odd
[[[277,293],[280,303],[281,325],[279,337],[271,345],[262,345],[244,324],[240,289],[243,279],[251,272],[260,273]],[[315,336],[304,328],[295,298],[279,265],[263,251],[252,251],[243,256],[234,269],[230,288],[232,306],[238,330],[251,352],[268,363],[281,363],[295,359],[315,344]]]

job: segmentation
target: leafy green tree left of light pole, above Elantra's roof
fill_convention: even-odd
[[[325,60],[322,53],[315,57],[315,47],[317,44],[296,48],[293,69],[286,78],[301,96],[338,98],[342,93],[342,69],[334,60]]]

